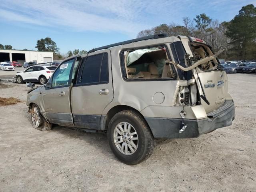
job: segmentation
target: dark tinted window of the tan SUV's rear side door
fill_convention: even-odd
[[[82,64],[82,74],[77,84],[108,82],[108,54],[89,56]]]

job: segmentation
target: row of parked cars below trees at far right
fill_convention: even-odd
[[[256,73],[256,60],[220,62],[226,73]]]

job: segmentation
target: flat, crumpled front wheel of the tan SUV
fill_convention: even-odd
[[[40,108],[36,104],[33,104],[31,108],[31,121],[32,126],[37,130],[50,131],[52,129],[52,124],[44,119],[40,114]]]

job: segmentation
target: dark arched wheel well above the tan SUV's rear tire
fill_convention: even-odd
[[[134,111],[138,112],[138,114],[140,114],[142,116],[142,114],[138,110],[136,110],[136,109],[134,109],[134,108],[132,108],[130,106],[127,106],[127,105],[117,105],[117,106],[114,106],[112,109],[110,109],[108,111],[106,117],[104,118],[103,129],[104,130],[108,130],[108,124],[109,124],[110,120],[112,119],[112,117],[115,114],[117,114],[118,112],[124,111],[124,110],[134,110]],[[142,117],[144,118],[144,116],[142,116]]]

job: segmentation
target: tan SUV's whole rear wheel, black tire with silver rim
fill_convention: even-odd
[[[110,120],[108,142],[115,156],[128,165],[149,158],[156,143],[144,118],[133,110],[118,112]]]

